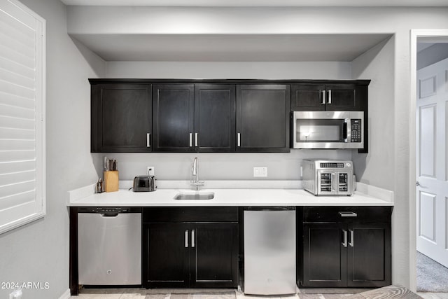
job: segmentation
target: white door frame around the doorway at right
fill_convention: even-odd
[[[409,287],[416,291],[416,92],[417,42],[419,39],[447,41],[448,29],[411,29],[409,98]]]

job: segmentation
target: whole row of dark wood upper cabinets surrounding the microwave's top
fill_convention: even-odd
[[[89,79],[92,152],[290,151],[291,111],[364,111],[368,80]]]

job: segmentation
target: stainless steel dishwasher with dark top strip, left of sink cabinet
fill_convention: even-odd
[[[78,283],[141,284],[141,209],[78,209]]]

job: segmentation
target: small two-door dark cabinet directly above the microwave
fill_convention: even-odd
[[[356,84],[295,84],[291,86],[293,111],[362,111]],[[361,95],[360,95],[361,96]]]

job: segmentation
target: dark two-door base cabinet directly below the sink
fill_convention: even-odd
[[[219,211],[222,208],[212,209]],[[228,222],[213,222],[213,219],[204,218],[207,215],[200,214],[200,211],[195,217],[195,209],[157,210],[158,218],[153,218],[155,222],[144,223],[143,226],[143,286],[236,288],[239,226],[238,210],[232,209],[235,210],[235,217],[229,218]],[[214,211],[210,208],[207,211],[212,218]],[[147,209],[147,214],[154,212]],[[168,214],[159,214],[164,212]],[[144,218],[151,218],[145,214],[144,211]],[[158,219],[164,221],[164,218],[178,219],[181,222],[157,222]]]

